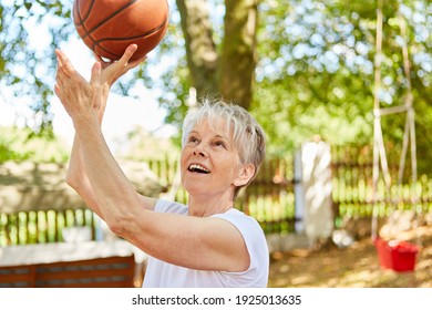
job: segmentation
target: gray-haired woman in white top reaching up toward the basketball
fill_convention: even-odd
[[[136,193],[111,154],[101,123],[111,85],[144,61],[96,56],[90,82],[56,50],[55,94],[75,138],[66,182],[110,229],[150,256],[143,287],[266,287],[268,248],[258,223],[234,208],[258,172],[265,134],[244,108],[205,101],[183,126],[181,176],[187,205]],[[151,147],[151,146],[150,146]]]

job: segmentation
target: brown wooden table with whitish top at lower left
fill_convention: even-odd
[[[138,287],[146,258],[124,240],[10,246],[0,248],[0,287]]]

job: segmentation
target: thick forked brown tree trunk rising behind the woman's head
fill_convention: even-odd
[[[197,96],[222,95],[248,108],[256,66],[257,0],[226,0],[220,59],[213,40],[207,0],[176,0],[187,63]]]

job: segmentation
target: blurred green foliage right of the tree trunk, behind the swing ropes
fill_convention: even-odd
[[[265,1],[260,9],[260,60],[251,111],[269,135],[269,151],[291,152],[317,134],[331,144],[370,144],[377,1],[280,0]],[[426,18],[431,10],[428,1],[385,1],[380,91],[383,106],[403,104],[408,89],[402,45],[407,42],[418,133],[423,132],[418,142],[429,149],[431,74],[424,73],[432,70],[425,63],[432,56],[425,52],[431,44]],[[407,38],[401,35],[398,11],[408,23]],[[404,117],[383,117],[387,142],[402,142]]]

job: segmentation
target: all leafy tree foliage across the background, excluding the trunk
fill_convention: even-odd
[[[114,92],[138,97],[135,86],[155,90],[167,110],[165,122],[178,128],[187,111],[191,75],[176,3],[169,0],[166,37],[138,70]],[[402,46],[409,48],[414,97],[418,154],[429,154],[432,138],[432,3],[389,0],[383,8],[383,106],[403,104],[408,81]],[[40,117],[37,127],[50,131],[50,99],[55,72],[54,49],[76,37],[72,1],[0,0],[0,87],[8,86]],[[208,2],[210,3],[210,1]],[[213,1],[215,42],[223,42],[223,1]],[[266,0],[259,3],[258,65],[251,112],[269,138],[269,155],[294,151],[321,135],[332,144],[371,143],[378,0]],[[215,9],[216,8],[216,9]],[[398,13],[407,22],[401,34]],[[31,41],[29,29],[48,29],[44,42]],[[7,31],[8,30],[8,31]],[[217,46],[220,50],[220,46]],[[6,92],[1,92],[6,100]],[[10,99],[8,99],[10,100]],[[41,116],[43,115],[43,116]],[[385,142],[401,144],[404,115],[382,118]],[[177,137],[178,142],[178,137]],[[420,173],[429,159],[420,156]]]

